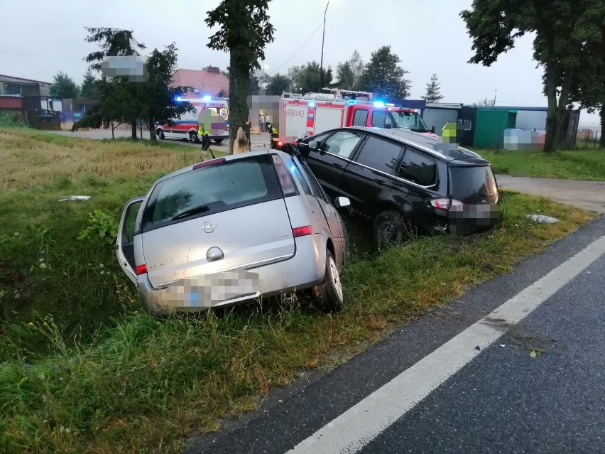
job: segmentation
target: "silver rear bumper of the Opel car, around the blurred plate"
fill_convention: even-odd
[[[176,300],[167,288],[153,288],[147,274],[137,278],[138,293],[143,307],[153,315],[164,315],[173,311],[195,312],[211,307],[231,306],[237,303],[259,298],[280,295],[295,290],[310,288],[323,283],[325,279],[325,237],[322,234],[307,235],[296,239],[295,254],[287,260],[265,266],[242,268],[251,273],[258,273],[258,291],[242,294],[239,297],[224,301],[198,301],[196,306],[185,301]],[[181,285],[176,281],[170,285]]]

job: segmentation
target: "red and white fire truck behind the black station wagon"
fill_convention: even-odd
[[[374,99],[371,92],[329,89],[329,93],[283,93],[279,112],[279,140],[289,143],[344,126],[404,128],[438,137],[415,109]]]

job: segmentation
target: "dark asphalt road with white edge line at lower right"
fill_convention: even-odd
[[[605,453],[604,234],[601,217],[332,372],[271,391],[185,453]],[[503,323],[505,307],[518,322]],[[449,362],[462,365],[446,374]]]

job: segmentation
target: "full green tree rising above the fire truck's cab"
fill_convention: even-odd
[[[384,45],[373,52],[361,79],[361,86],[386,99],[405,99],[410,96],[408,71],[399,66],[399,57]]]

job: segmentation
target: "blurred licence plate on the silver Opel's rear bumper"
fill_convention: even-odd
[[[166,298],[175,306],[210,307],[223,301],[260,293],[258,273],[224,271],[173,282],[166,289]]]

